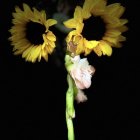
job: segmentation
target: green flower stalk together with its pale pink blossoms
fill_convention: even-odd
[[[68,90],[66,92],[66,123],[68,128],[68,140],[74,140],[74,127],[72,119],[75,118],[74,99],[78,103],[87,100],[82,91],[91,85],[91,77],[95,72],[93,66],[89,65],[87,58],[80,56],[71,57],[66,54],[65,67],[67,69]]]

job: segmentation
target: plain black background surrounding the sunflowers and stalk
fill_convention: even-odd
[[[21,56],[14,56],[7,40],[14,7],[23,2],[38,6],[40,0],[2,0],[0,3],[0,93],[1,110],[4,110],[1,121],[6,128],[4,139],[67,140],[67,73],[63,53],[58,49],[60,54],[54,52],[47,63],[42,59],[40,63],[32,64]],[[140,4],[136,0],[109,2],[120,2],[126,7],[127,41],[121,49],[114,48],[111,57],[99,58],[94,53],[88,56],[96,73],[92,86],[85,90],[88,102],[75,102],[76,140],[140,139],[139,24],[136,21]],[[54,6],[51,2],[48,4]]]

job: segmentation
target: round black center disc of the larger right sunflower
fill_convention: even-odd
[[[90,17],[84,20],[82,35],[87,40],[101,40],[106,31],[105,23],[101,17]]]

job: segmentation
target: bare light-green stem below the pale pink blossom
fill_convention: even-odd
[[[66,123],[68,128],[68,140],[74,140],[74,128],[72,119],[75,117],[75,110],[74,110],[74,86],[73,86],[73,79],[68,74],[67,76],[68,81],[68,90],[66,93]]]

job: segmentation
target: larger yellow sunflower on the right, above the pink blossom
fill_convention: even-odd
[[[127,30],[125,24],[128,21],[120,18],[124,11],[125,8],[120,3],[107,5],[107,0],[85,0],[83,7],[75,8],[74,17],[64,22],[67,28],[73,29],[66,37],[67,49],[75,55],[81,53],[88,55],[94,51],[98,56],[111,56],[112,47],[119,48],[121,42],[126,40],[122,33]],[[105,32],[98,40],[92,38],[88,40],[83,35],[85,23],[91,18],[94,22],[94,18],[97,17],[104,22]],[[95,34],[94,29],[93,33],[90,29],[90,34]]]

